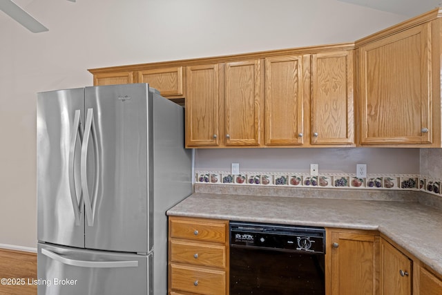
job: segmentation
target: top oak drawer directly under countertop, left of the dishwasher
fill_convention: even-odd
[[[224,223],[176,220],[171,219],[171,237],[205,240],[211,242],[226,241],[226,227]]]

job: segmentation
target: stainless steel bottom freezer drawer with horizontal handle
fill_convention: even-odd
[[[38,245],[39,295],[153,294],[152,256]]]

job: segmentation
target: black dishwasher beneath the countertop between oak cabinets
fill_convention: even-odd
[[[325,229],[230,222],[230,294],[325,294]]]

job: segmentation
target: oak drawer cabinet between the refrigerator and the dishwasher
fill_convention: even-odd
[[[229,221],[169,217],[169,294],[229,294]]]

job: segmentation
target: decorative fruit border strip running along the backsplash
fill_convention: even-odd
[[[244,172],[232,175],[225,171],[196,171],[195,183],[294,188],[407,189],[442,196],[441,179],[427,178],[417,174],[367,174],[367,178],[356,178],[355,175],[336,173],[311,176],[306,173]]]

